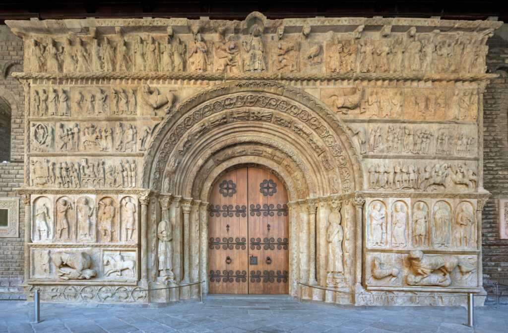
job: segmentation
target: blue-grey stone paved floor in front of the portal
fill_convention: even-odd
[[[0,332],[506,332],[508,307],[475,308],[469,328],[466,308],[351,307],[298,304],[289,296],[208,296],[161,308],[136,305],[41,304],[0,301]]]

